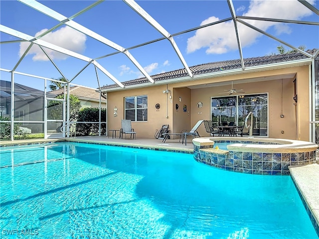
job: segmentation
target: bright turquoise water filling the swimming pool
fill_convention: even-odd
[[[16,229],[37,239],[318,239],[290,176],[80,143],[5,147],[0,157],[1,238]]]

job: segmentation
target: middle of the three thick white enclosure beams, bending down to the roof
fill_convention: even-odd
[[[140,63],[131,55],[131,53],[125,49],[124,47],[116,44],[115,42],[99,35],[98,33],[86,28],[85,26],[82,26],[78,24],[77,22],[67,18],[66,16],[63,16],[62,14],[52,10],[51,8],[35,1],[35,0],[19,0],[20,2],[26,4],[29,7],[34,8],[35,10],[48,15],[49,17],[52,17],[53,19],[60,21],[61,23],[72,27],[73,29],[82,32],[83,34],[92,37],[95,40],[98,40],[102,42],[105,45],[108,45],[112,47],[113,49],[116,49],[122,53],[124,53],[131,61],[132,63],[143,73],[143,75],[152,83],[154,83],[154,80],[152,77],[146,72],[146,70],[140,65]],[[72,16],[74,18],[75,16]]]

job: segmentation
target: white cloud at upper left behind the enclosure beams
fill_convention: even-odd
[[[35,36],[38,36],[45,31],[47,31],[47,29],[43,29],[37,32]],[[86,35],[79,31],[74,30],[71,27],[64,26],[56,31],[46,34],[40,39],[47,41],[49,43],[52,43],[54,45],[63,47],[65,49],[68,49],[77,53],[81,53],[85,49]],[[29,42],[20,43],[20,49],[19,49],[20,57],[25,52],[29,44],[30,44]],[[68,55],[53,51],[51,49],[45,48],[45,51],[52,58],[52,60],[54,59],[65,60],[68,57]],[[46,55],[43,53],[43,51],[37,45],[33,45],[31,49],[28,51],[27,55],[34,55],[32,57],[33,61],[48,61],[49,60],[46,57]]]

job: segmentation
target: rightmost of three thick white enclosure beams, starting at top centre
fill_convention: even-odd
[[[123,0],[128,4],[133,10],[135,10],[140,16],[142,16],[147,22],[149,22],[155,29],[157,29],[166,39],[170,41],[170,44],[174,48],[178,58],[182,62],[185,70],[187,71],[189,77],[193,77],[191,70],[189,69],[184,57],[182,56],[177,44],[175,43],[171,34],[169,34],[161,25],[158,23],[147,11],[145,11],[138,3],[134,0]]]

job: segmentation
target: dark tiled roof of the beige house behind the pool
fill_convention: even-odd
[[[308,50],[308,53],[314,53],[317,49]],[[300,53],[300,52],[293,52],[293,53],[286,53],[286,54],[279,54],[279,55],[269,55],[269,56],[261,56],[261,57],[252,57],[252,58],[245,58],[244,59],[244,65],[245,68],[247,67],[255,67],[255,66],[264,66],[274,63],[282,63],[282,62],[289,62],[294,60],[301,60],[301,59],[307,59],[308,56]],[[228,60],[228,61],[220,61],[220,62],[211,62],[196,66],[189,67],[191,72],[193,73],[193,76],[199,76],[207,73],[214,73],[214,72],[220,72],[220,71],[227,71],[227,70],[233,70],[233,69],[241,69],[241,61],[240,59],[237,60]],[[179,69],[174,70],[170,72],[160,73],[158,75],[151,76],[152,79],[155,82],[160,82],[163,80],[169,80],[169,79],[177,79],[181,77],[187,77],[188,74],[186,70]],[[140,79],[130,80],[126,82],[122,82],[124,86],[133,86],[133,85],[139,85],[149,83],[149,80],[144,77]],[[113,89],[113,88],[119,88],[117,84],[109,85],[109,86],[103,86],[101,87],[101,90],[107,90],[107,89]]]

